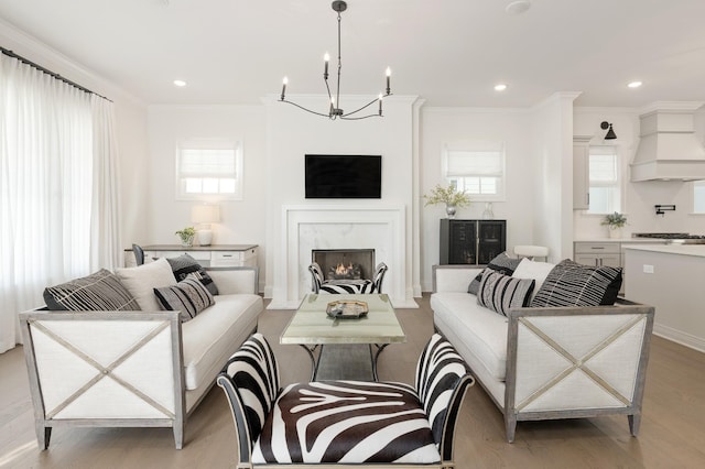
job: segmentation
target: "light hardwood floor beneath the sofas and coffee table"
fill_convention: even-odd
[[[408,335],[379,361],[381,380],[411,383],[419,352],[433,332],[429,297],[399,309]],[[265,310],[259,330],[275,350],[283,383],[306,381],[305,352],[279,345],[290,310]],[[657,312],[658,314],[658,312]],[[55,429],[37,449],[21,347],[0,355],[0,468],[229,468],[235,430],[223,391],[214,388],[189,418],[184,449],[169,428]],[[702,468],[705,467],[705,353],[654,337],[638,438],[627,417],[520,422],[505,441],[500,412],[479,385],[471,388],[456,434],[464,468]]]

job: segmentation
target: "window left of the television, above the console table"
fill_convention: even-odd
[[[176,198],[242,198],[242,152],[239,142],[189,140],[176,149]]]

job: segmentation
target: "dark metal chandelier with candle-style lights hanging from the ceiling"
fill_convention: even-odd
[[[390,77],[392,73],[389,67],[387,67],[387,89],[383,96],[380,92],[376,99],[372,99],[367,105],[350,112],[345,112],[343,109],[340,109],[340,69],[343,68],[343,65],[340,63],[340,13],[347,10],[348,4],[344,1],[334,1],[330,7],[333,8],[334,11],[338,13],[338,79],[335,85],[335,95],[334,95],[330,92],[330,85],[328,84],[328,62],[330,61],[330,56],[328,55],[328,53],[326,53],[323,57],[323,61],[324,61],[323,80],[326,84],[326,90],[328,91],[328,100],[330,102],[330,106],[328,107],[328,112],[313,111],[301,105],[297,105],[293,101],[288,100],[285,95],[286,95],[286,85],[289,84],[289,78],[286,77],[284,77],[283,85],[282,85],[282,95],[279,100],[281,102],[288,102],[290,105],[296,106],[297,108],[303,109],[306,112],[311,112],[312,114],[327,117],[330,120],[335,120],[335,119],[359,120],[359,119],[367,119],[371,117],[382,117],[382,98],[390,96],[392,94],[390,88]],[[369,108],[376,102],[379,103],[379,107],[376,113],[369,113],[366,116],[358,114],[358,112],[364,111],[365,109]]]

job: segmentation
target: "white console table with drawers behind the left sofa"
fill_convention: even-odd
[[[188,253],[203,266],[257,266],[257,244],[213,244],[185,248],[181,244],[143,246],[145,258],[177,258]],[[134,254],[126,249],[124,265],[134,266]]]

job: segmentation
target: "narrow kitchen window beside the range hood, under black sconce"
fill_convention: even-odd
[[[590,146],[589,160],[589,214],[621,211],[621,184],[619,155],[616,146]]]

